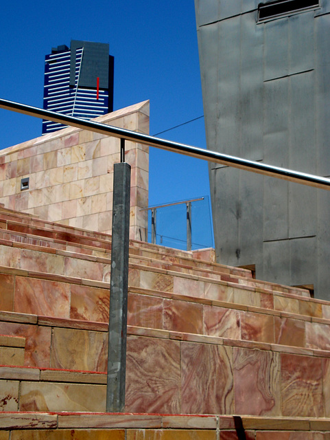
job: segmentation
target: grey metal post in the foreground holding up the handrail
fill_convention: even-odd
[[[130,165],[123,162],[113,174],[107,412],[125,408],[129,226]]]

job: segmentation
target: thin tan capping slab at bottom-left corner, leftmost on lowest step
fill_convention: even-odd
[[[57,415],[31,412],[0,412],[0,429],[56,428]]]

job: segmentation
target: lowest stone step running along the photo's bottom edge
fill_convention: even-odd
[[[1,440],[328,440],[330,419],[3,412],[0,430]]]

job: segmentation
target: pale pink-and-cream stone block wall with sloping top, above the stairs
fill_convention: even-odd
[[[95,118],[104,124],[149,133],[149,102]],[[111,233],[113,164],[120,140],[68,127],[0,151],[0,203],[40,219]],[[148,206],[149,148],[126,142],[131,169],[130,239],[144,240]],[[21,179],[29,188],[21,190]]]

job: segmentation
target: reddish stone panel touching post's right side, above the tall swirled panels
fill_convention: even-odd
[[[128,325],[163,329],[163,298],[128,294]]]

